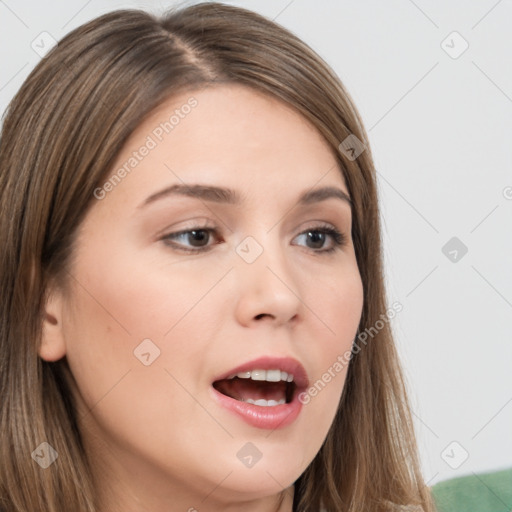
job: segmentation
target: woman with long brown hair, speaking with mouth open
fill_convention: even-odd
[[[0,162],[4,510],[434,510],[367,137],[307,45],[213,2],[103,15]]]

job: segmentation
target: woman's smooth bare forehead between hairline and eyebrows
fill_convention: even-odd
[[[241,85],[166,100],[134,131],[113,172],[130,163],[127,193],[210,183],[241,189],[244,198],[260,192],[278,199],[329,185],[348,195],[334,151],[317,129],[289,105]]]

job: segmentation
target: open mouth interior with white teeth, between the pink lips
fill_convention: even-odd
[[[297,390],[293,375],[280,370],[240,372],[216,380],[213,387],[234,400],[260,406],[289,404]]]

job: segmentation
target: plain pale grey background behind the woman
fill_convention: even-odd
[[[303,38],[361,112],[426,481],[512,466],[510,0],[226,3]],[[0,111],[42,32],[59,40],[117,8],[172,4],[0,0]]]

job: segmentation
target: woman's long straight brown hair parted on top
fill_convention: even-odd
[[[349,94],[315,52],[278,24],[215,2],[161,17],[119,10],[82,25],[30,73],[0,139],[0,508],[97,510],[65,358],[46,362],[37,352],[47,289],[53,281],[66,285],[77,228],[129,135],[172,95],[214,83],[277,97],[325,137],[353,201],[364,287],[360,332],[387,310],[369,142]],[[349,135],[366,146],[355,159],[339,147]],[[58,463],[43,470],[31,453],[45,441]],[[434,510],[384,323],[350,360],[327,438],[295,482],[293,510],[400,505]]]

